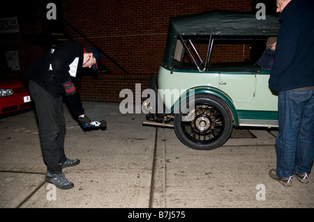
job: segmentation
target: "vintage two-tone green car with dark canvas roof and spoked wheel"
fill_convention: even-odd
[[[196,150],[220,147],[234,126],[278,127],[270,70],[250,60],[211,63],[216,44],[231,51],[256,42],[264,47],[280,27],[276,15],[265,18],[228,10],[171,17],[158,75],[149,77],[156,93],[147,104],[151,125],[174,127],[180,141]]]

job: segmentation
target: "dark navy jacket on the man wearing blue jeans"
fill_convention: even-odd
[[[290,1],[279,19],[269,86],[272,90],[314,86],[314,1]]]

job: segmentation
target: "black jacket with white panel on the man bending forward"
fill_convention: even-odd
[[[54,47],[53,52],[48,51],[38,58],[24,72],[24,77],[59,97],[65,93],[63,84],[68,81],[72,81],[76,89],[79,87],[83,55],[84,49],[77,42],[61,43]],[[70,65],[73,67],[71,70]],[[74,95],[66,96],[66,100],[75,116],[84,114],[78,90]]]

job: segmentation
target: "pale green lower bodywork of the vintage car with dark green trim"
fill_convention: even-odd
[[[158,72],[158,88],[164,89],[162,99],[168,113],[177,109],[186,92],[193,89],[195,95],[215,95],[223,100],[232,111],[236,126],[278,127],[278,95],[270,90],[268,80],[269,71],[263,69],[179,72],[160,67]],[[173,93],[177,90],[181,95]]]

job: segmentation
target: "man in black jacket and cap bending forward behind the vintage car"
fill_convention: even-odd
[[[63,116],[63,95],[80,124],[91,120],[82,108],[77,87],[82,68],[97,70],[100,54],[94,48],[83,49],[76,42],[64,42],[47,52],[24,73],[36,105],[43,159],[47,165],[45,179],[59,189],[71,189],[74,184],[62,169],[80,164],[79,159],[68,159],[64,152],[66,120]]]

